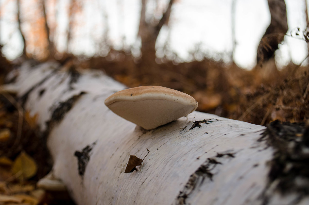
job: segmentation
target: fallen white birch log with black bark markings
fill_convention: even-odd
[[[194,111],[144,130],[104,100],[125,86],[103,72],[25,62],[8,78],[48,137],[53,175],[77,204],[291,204],[268,187],[265,127]],[[197,122],[199,121],[199,126]],[[124,173],[129,156],[143,158]],[[299,204],[309,204],[304,197]]]

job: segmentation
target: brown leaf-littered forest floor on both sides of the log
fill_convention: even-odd
[[[278,70],[273,60],[253,70],[211,59],[173,63],[143,63],[125,52],[79,60],[67,57],[72,68],[96,68],[128,87],[160,85],[193,96],[198,111],[267,125],[274,120],[303,122],[309,119],[308,67],[290,64]],[[0,76],[1,82],[6,72]],[[44,145],[44,146],[42,146]],[[11,94],[0,94],[0,205],[74,204],[66,193],[36,188],[52,166],[36,127],[36,116],[19,105]]]

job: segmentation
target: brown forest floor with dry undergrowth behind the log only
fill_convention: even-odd
[[[128,87],[160,85],[193,96],[197,111],[267,125],[274,120],[309,119],[309,70],[289,64],[277,69],[270,59],[252,70],[212,59],[160,63],[132,60],[125,52],[111,52],[78,65],[104,70]]]

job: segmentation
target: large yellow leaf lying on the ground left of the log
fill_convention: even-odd
[[[29,179],[36,175],[37,165],[35,161],[25,152],[21,152],[15,159],[12,166],[12,173],[20,173],[21,181]]]

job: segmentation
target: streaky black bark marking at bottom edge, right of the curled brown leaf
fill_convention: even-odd
[[[187,204],[186,199],[189,198],[194,191],[198,191],[197,188],[204,183],[205,179],[213,181],[214,173],[212,172],[212,170],[219,164],[222,164],[218,160],[223,156],[225,156],[226,158],[231,158],[234,157],[234,154],[231,155],[230,152],[222,154],[218,153],[215,157],[208,158],[203,164],[201,164],[201,166],[192,175],[190,175],[188,182],[186,183],[184,188],[179,192],[173,204],[176,205]]]

